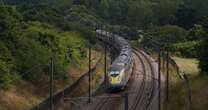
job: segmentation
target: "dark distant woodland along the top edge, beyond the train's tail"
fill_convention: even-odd
[[[145,28],[150,24],[176,24],[191,28],[207,15],[203,0],[79,0],[79,5],[111,24]]]

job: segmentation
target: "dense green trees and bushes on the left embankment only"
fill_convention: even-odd
[[[91,29],[65,19],[68,15],[60,8],[1,4],[0,12],[1,88],[20,79],[36,84],[48,75],[50,58],[55,78],[66,80],[66,67],[86,58]]]

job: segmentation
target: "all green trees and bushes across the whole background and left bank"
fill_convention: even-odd
[[[83,38],[93,36],[97,22],[113,25],[130,39],[138,38],[137,30],[147,30],[155,40],[169,43],[173,53],[199,58],[207,72],[207,4],[208,0],[2,0],[0,86],[19,78],[36,81],[47,74],[47,66],[22,74],[47,64],[52,56],[58,65],[56,78],[66,78],[66,66],[86,57]]]

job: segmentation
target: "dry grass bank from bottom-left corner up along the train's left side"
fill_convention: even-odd
[[[95,65],[99,58],[100,52],[93,50],[92,66]],[[71,84],[73,81],[77,80],[82,75],[81,73],[88,71],[88,58],[84,59],[82,62],[80,66],[69,66],[67,74],[71,77],[70,82],[55,81],[56,91],[62,90],[65,86],[69,85],[69,83]],[[39,104],[48,96],[47,86],[44,86],[44,88],[41,86],[40,88],[33,86],[29,82],[19,81],[17,85],[11,87],[11,89],[7,91],[0,90],[0,110],[28,110],[34,105]]]

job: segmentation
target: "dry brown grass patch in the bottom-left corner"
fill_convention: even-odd
[[[24,88],[21,87],[23,85]],[[43,99],[35,96],[32,91],[35,91],[35,88],[23,81],[8,91],[1,90],[0,110],[28,110]]]

